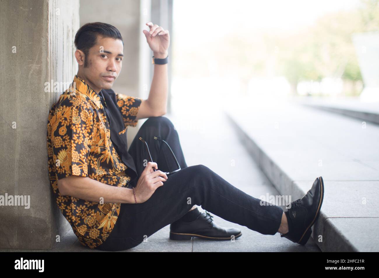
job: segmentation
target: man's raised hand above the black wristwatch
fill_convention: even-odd
[[[161,26],[147,22],[150,31],[143,30],[146,36],[146,41],[150,49],[154,53],[155,58],[164,59],[168,55],[168,47],[170,45],[170,35],[168,30],[164,30]]]

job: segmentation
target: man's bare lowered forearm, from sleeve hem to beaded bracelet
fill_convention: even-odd
[[[132,188],[106,185],[89,177],[71,175],[58,180],[58,189],[63,196],[103,203],[135,203]]]

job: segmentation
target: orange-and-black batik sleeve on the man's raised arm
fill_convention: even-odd
[[[116,93],[117,107],[121,112],[125,127],[136,126],[136,116],[142,103],[142,98],[126,96]]]

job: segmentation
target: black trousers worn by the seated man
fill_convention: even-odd
[[[148,118],[130,145],[129,153],[135,161],[138,177],[145,168],[144,162],[146,165],[146,161],[149,161],[146,145],[139,137],[148,144],[159,170],[169,172],[177,169],[167,145],[153,139],[154,136],[159,136],[170,145],[182,169],[169,175],[163,186],[158,187],[146,202],[121,203],[113,231],[97,249],[120,251],[135,247],[145,238],[183,217],[194,205],[263,235],[277,233],[282,221],[282,208],[266,202],[263,202],[266,205],[260,205],[260,199],[231,185],[207,166],[188,167],[179,135],[166,117]],[[133,181],[133,186],[136,183],[137,179]]]

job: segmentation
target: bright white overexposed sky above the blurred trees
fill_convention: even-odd
[[[235,30],[260,27],[293,30],[328,12],[351,9],[359,0],[174,0],[174,32],[207,40]],[[179,34],[177,36],[180,36]],[[178,39],[178,38],[175,38]]]

